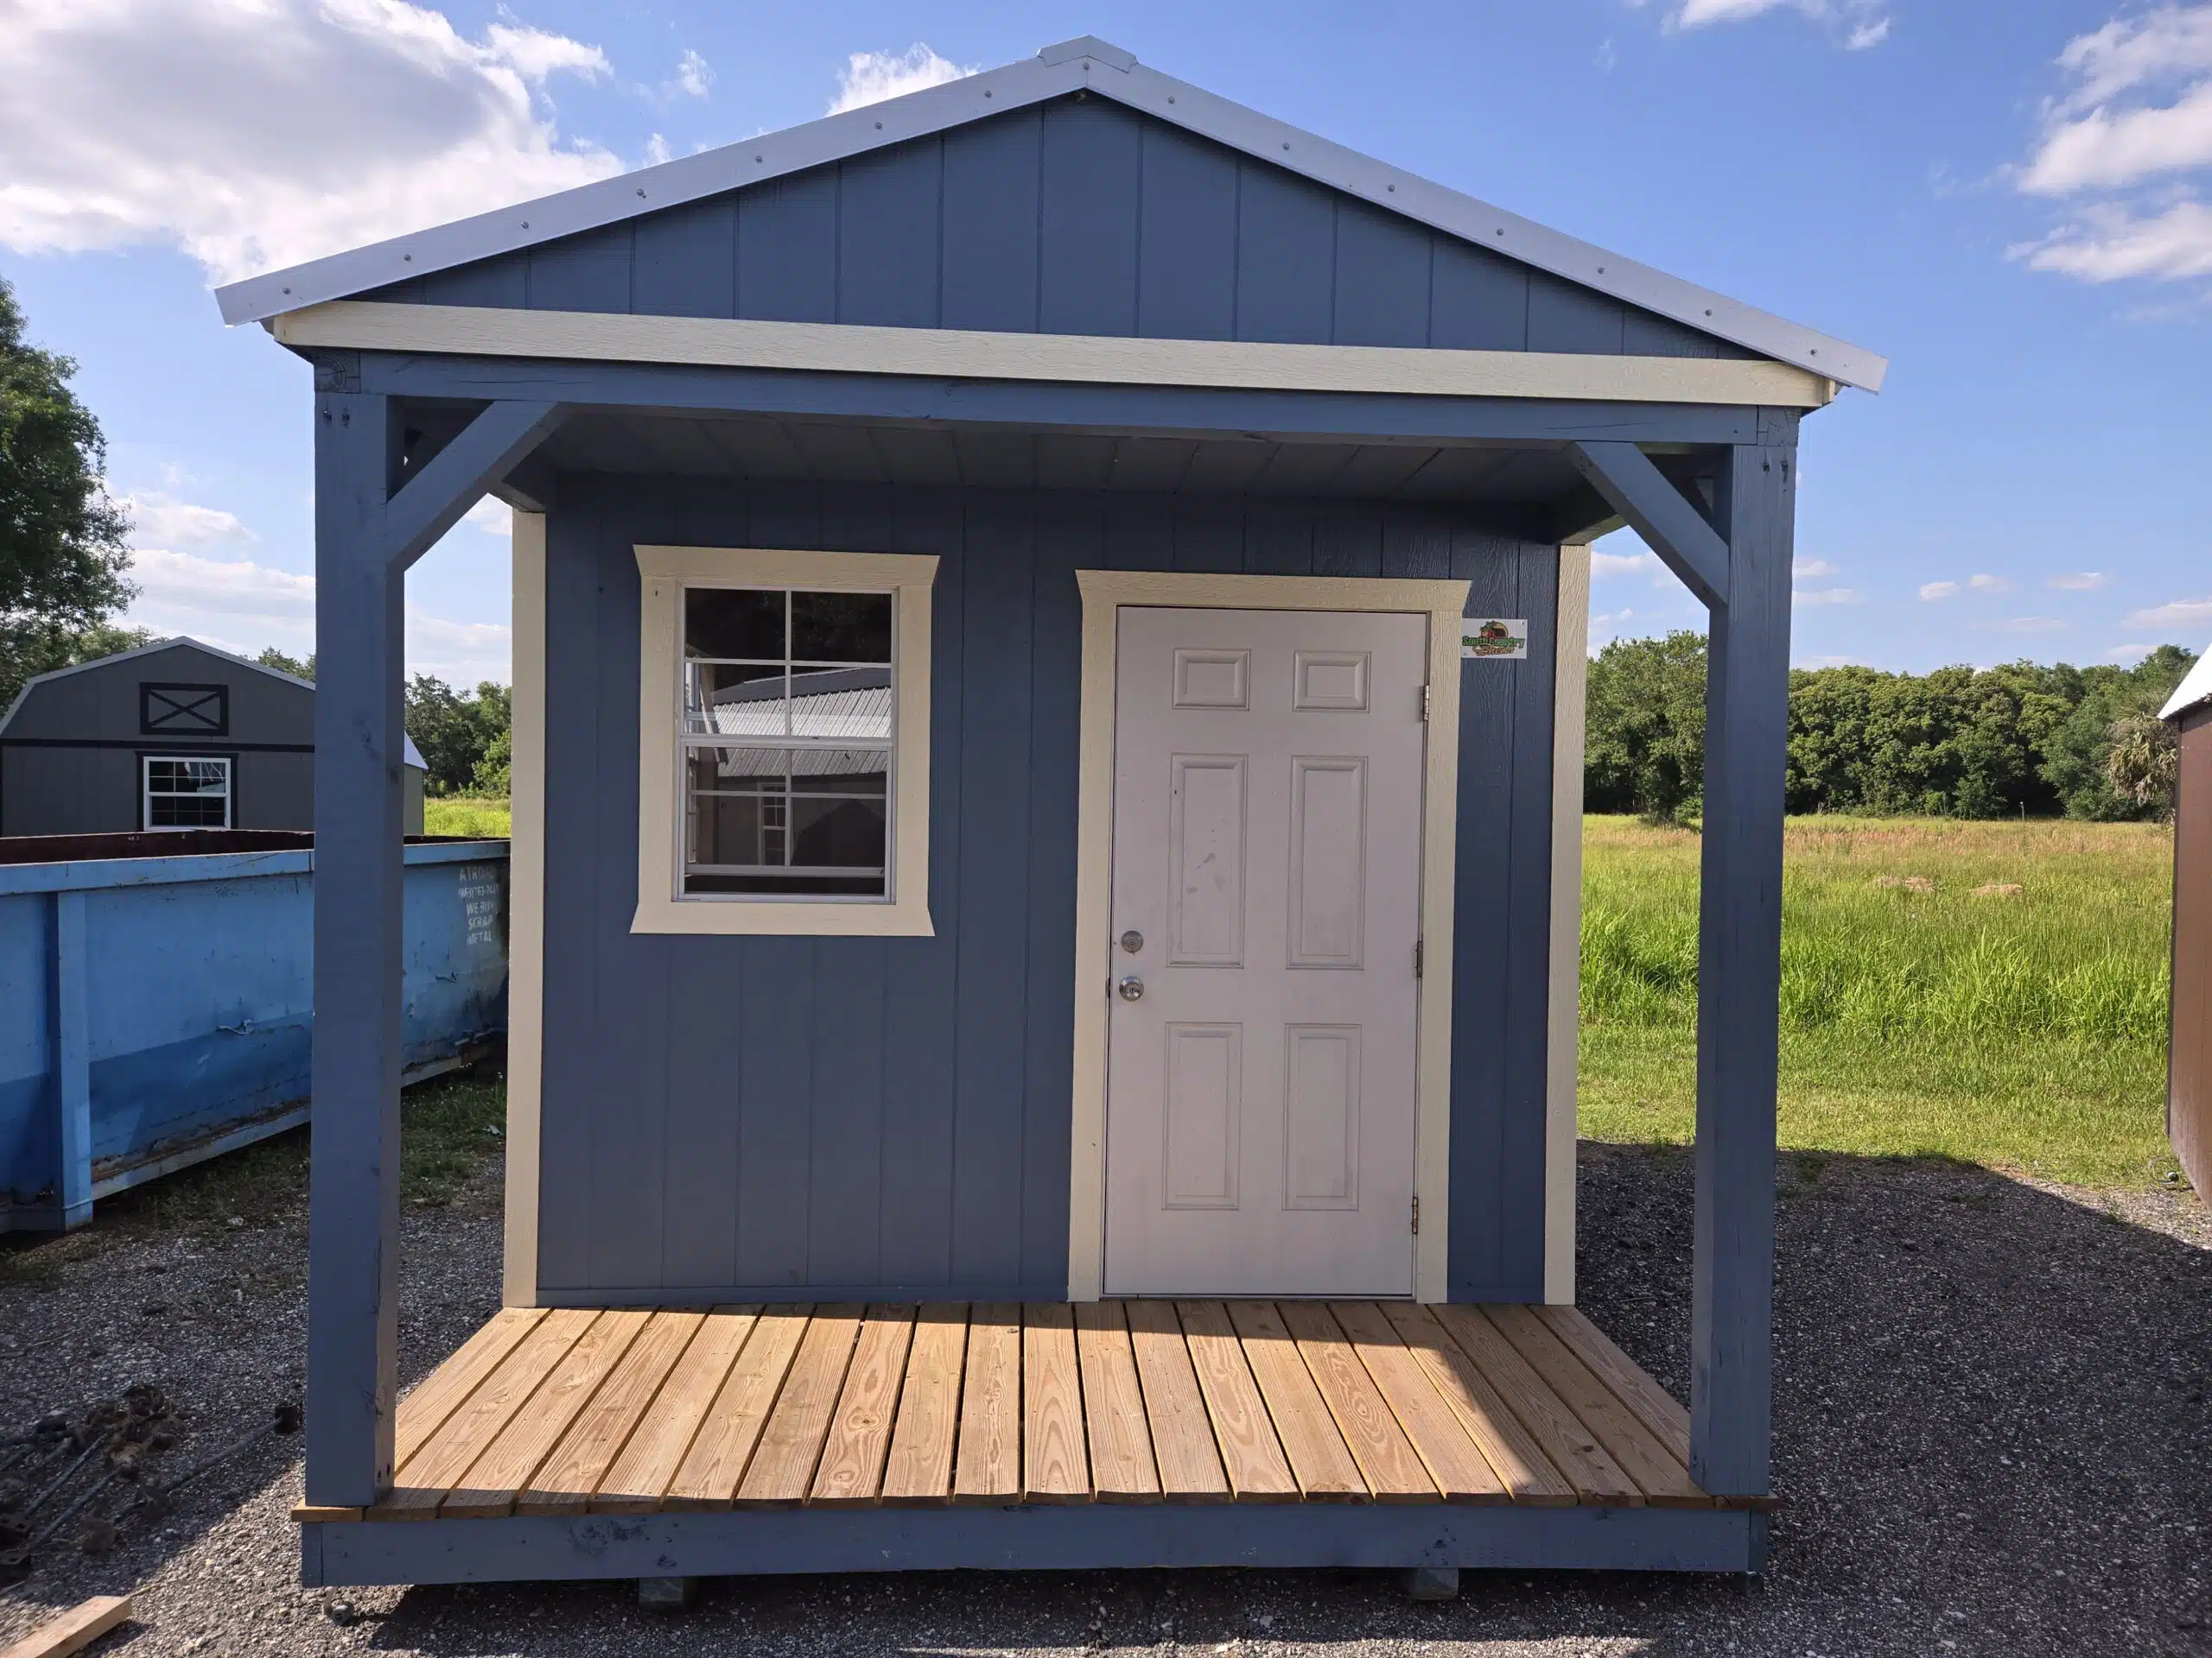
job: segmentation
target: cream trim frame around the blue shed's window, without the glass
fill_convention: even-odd
[[[633,933],[931,937],[929,922],[929,595],[938,559],[909,553],[799,553],[637,546],[637,913]],[[896,592],[891,674],[891,900],[677,898],[677,730],[684,584]]]

